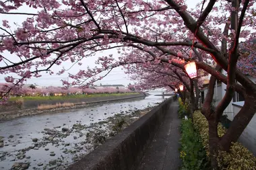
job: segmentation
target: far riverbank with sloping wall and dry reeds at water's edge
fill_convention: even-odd
[[[13,106],[5,106],[1,105],[0,110],[2,111],[0,113],[0,122],[11,120],[14,118],[20,118],[22,116],[34,116],[37,114],[44,114],[44,113],[57,113],[61,110],[72,110],[72,109],[79,109],[79,108],[86,108],[91,105],[96,105],[99,103],[106,103],[106,102],[115,102],[115,101],[124,101],[129,99],[135,99],[135,98],[143,98],[146,97],[146,93],[130,93],[126,95],[104,95],[104,96],[98,96],[98,97],[86,97],[81,98],[77,101],[77,98],[75,100],[72,99],[66,99],[60,100],[60,99],[52,99],[52,100],[28,100],[24,102],[24,105],[27,105],[25,109],[25,106],[23,105],[20,110],[17,108],[13,109]],[[72,102],[73,101],[73,102]],[[72,105],[69,105],[67,107],[61,107],[61,108],[50,108],[46,110],[38,110],[38,105],[44,105],[45,103],[48,103],[48,105],[55,105],[56,103],[73,103]],[[33,107],[34,106],[34,107]],[[15,106],[16,107],[16,106]]]

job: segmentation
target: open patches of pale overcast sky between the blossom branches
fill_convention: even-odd
[[[196,3],[198,3],[201,0],[187,0],[187,4],[189,9],[195,7]],[[207,4],[207,3],[206,3]],[[29,11],[31,10],[28,7],[22,7],[21,9],[19,9],[20,12],[31,12],[33,13],[34,11]],[[22,24],[22,22],[26,19],[26,15],[3,15],[0,14],[1,19],[6,19],[7,21],[9,21],[9,25],[13,26],[13,22],[16,22],[18,24]],[[0,23],[0,26],[2,25],[2,23]],[[39,78],[32,78],[29,79],[27,81],[27,84],[37,84],[40,86],[49,86],[49,85],[53,85],[53,86],[61,86],[61,79],[67,79],[68,77],[68,73],[77,73],[77,71],[79,71],[79,69],[83,69],[82,67],[86,68],[86,67],[95,67],[96,64],[94,63],[95,60],[97,59],[97,57],[99,56],[108,56],[108,54],[113,54],[113,56],[115,58],[119,57],[119,54],[117,53],[117,50],[112,49],[112,50],[106,50],[104,52],[98,52],[96,54],[96,56],[94,57],[89,57],[89,58],[85,58],[82,60],[83,65],[81,67],[77,67],[78,65],[75,65],[74,67],[72,67],[68,72],[65,72],[63,75],[47,75],[46,73],[42,73],[42,77]],[[4,53],[3,56],[8,56],[11,54],[8,53]],[[9,58],[9,57],[7,57]],[[60,69],[62,69],[62,67],[65,67],[65,69],[71,67],[71,62],[65,62],[64,65],[61,66],[55,66],[53,67],[53,71],[55,71],[55,73],[57,73],[57,71],[59,71]],[[0,67],[3,66],[3,63],[0,62]],[[7,75],[0,75],[0,83],[5,83],[4,77],[6,77]],[[70,80],[69,80],[70,81]],[[111,71],[110,74],[108,74],[106,77],[104,77],[101,81],[96,82],[96,85],[100,85],[100,83],[102,83],[102,85],[113,85],[113,84],[122,84],[122,85],[128,85],[129,83],[133,83],[133,81],[131,81],[128,78],[128,75],[125,75],[123,69],[121,67],[113,69],[113,71]]]

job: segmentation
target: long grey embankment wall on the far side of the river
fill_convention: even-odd
[[[15,110],[36,109],[38,105],[47,104],[54,105],[56,103],[98,103],[104,101],[115,101],[122,99],[133,99],[137,97],[146,97],[145,93],[130,94],[130,95],[108,95],[102,97],[85,97],[85,98],[71,98],[71,99],[49,99],[49,100],[28,100],[24,101],[22,105],[18,105],[15,101],[7,103],[7,105],[0,105],[1,112],[11,112]]]

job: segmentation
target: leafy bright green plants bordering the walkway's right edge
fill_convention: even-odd
[[[205,149],[199,134],[194,130],[191,119],[182,120],[181,123],[181,159],[182,170],[209,169]]]

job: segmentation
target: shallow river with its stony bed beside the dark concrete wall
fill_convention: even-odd
[[[94,140],[104,140],[101,133],[109,131],[108,120],[162,102],[155,94],[1,122],[0,169],[65,169],[90,153]]]

